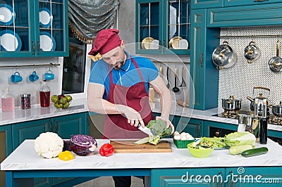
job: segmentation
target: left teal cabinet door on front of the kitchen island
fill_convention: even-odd
[[[222,186],[224,168],[152,169],[151,186]]]

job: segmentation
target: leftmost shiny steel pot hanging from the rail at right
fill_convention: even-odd
[[[228,68],[234,65],[235,61],[237,60],[237,55],[229,46],[227,41],[223,41],[223,44],[217,46],[212,53],[212,62],[216,65],[218,70],[222,68]]]

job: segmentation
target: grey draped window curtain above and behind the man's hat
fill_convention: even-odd
[[[93,44],[100,30],[113,25],[118,0],[68,0],[68,25],[85,44]]]

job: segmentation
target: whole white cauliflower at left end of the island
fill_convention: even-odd
[[[35,150],[42,157],[57,157],[63,150],[63,139],[54,132],[44,132],[35,139]]]

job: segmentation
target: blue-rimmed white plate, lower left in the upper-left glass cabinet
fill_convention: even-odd
[[[17,33],[11,30],[0,32],[1,51],[20,51],[22,41]]]

